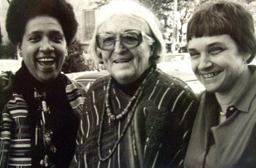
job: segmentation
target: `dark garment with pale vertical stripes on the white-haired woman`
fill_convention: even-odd
[[[115,153],[106,161],[99,161],[97,141],[108,78],[98,79],[86,95],[71,167],[182,167],[198,101],[183,81],[160,70],[150,76]],[[111,92],[112,108],[122,112],[131,97],[115,87]],[[129,115],[121,122],[104,118],[103,156],[113,149]]]

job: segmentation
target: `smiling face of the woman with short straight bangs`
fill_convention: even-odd
[[[229,35],[192,38],[188,50],[193,72],[207,91],[229,91],[247,71],[247,56]]]

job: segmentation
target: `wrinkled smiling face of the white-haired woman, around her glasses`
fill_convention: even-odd
[[[110,32],[119,36],[125,30],[140,30],[150,34],[150,28],[146,22],[134,19],[127,15],[115,15],[104,22],[100,32]],[[112,51],[100,50],[104,66],[120,84],[128,84],[137,80],[139,76],[150,67],[150,44],[145,37],[139,46],[125,48],[117,40]]]

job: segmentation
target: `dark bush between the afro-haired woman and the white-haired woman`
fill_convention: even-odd
[[[62,67],[63,73],[77,73],[94,69],[94,60],[84,53],[79,41],[74,40],[67,49],[67,56]]]

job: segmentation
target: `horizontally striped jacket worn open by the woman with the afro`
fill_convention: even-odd
[[[85,91],[79,83],[67,80],[67,99],[77,118],[82,116]],[[3,108],[0,135],[0,167],[32,167],[28,107],[22,95],[13,97]]]

